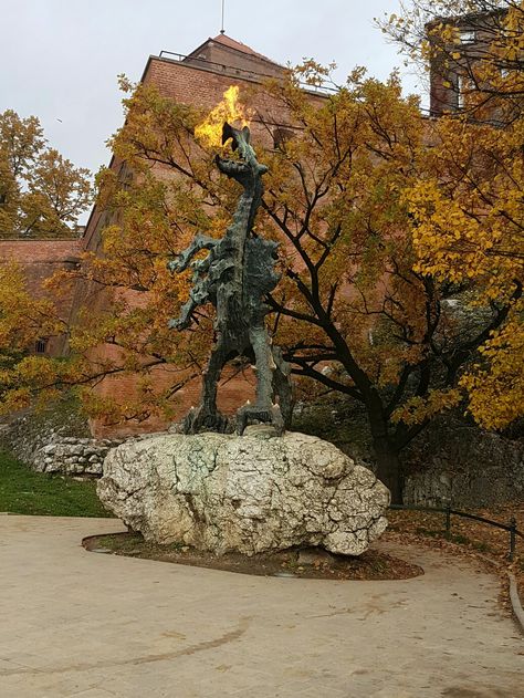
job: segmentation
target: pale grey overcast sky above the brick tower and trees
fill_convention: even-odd
[[[34,114],[52,146],[93,171],[122,124],[116,76],[138,80],[163,49],[189,53],[221,20],[221,0],[0,0],[0,112]],[[335,60],[338,80],[355,65],[385,79],[402,59],[373,20],[397,10],[397,0],[226,0],[224,27],[280,63]],[[412,75],[405,85],[418,91]]]

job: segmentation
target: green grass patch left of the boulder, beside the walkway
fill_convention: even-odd
[[[34,472],[0,451],[0,511],[50,517],[111,517],[96,482]]]

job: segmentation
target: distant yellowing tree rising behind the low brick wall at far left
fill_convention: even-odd
[[[90,173],[46,146],[36,117],[0,114],[0,238],[71,238],[91,204]]]

